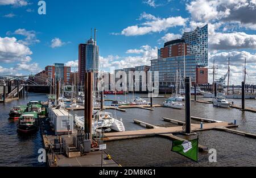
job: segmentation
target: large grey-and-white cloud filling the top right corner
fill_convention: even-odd
[[[187,3],[186,9],[196,22],[237,23],[240,27],[256,28],[255,0],[195,0]]]

